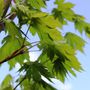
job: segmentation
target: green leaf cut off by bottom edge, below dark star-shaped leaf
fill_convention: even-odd
[[[23,90],[56,90],[53,86],[49,85],[45,81],[41,80],[39,83],[29,82],[25,79],[21,83],[21,89]]]

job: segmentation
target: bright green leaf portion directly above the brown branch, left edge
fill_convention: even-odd
[[[12,38],[11,36],[5,37],[3,40],[4,45],[0,48],[0,60],[5,59],[8,57],[14,50],[17,50],[20,48],[20,44],[18,39]],[[12,47],[12,48],[11,48]]]

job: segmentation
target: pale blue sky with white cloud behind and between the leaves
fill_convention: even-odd
[[[54,0],[51,0],[54,1]],[[74,7],[74,11],[77,14],[83,15],[86,17],[86,21],[90,22],[90,0],[66,0],[70,1],[76,6]],[[50,9],[53,7],[53,4],[50,2],[48,3],[49,8],[46,10],[50,12]],[[63,28],[64,32],[71,31],[75,32],[78,34],[77,31],[74,30],[74,25],[72,23],[68,23],[68,26],[64,26]],[[3,32],[0,34],[0,41],[3,37]],[[85,71],[82,73],[77,72],[77,77],[68,77],[66,79],[65,84],[62,84],[59,81],[54,80],[55,87],[57,87],[58,90],[90,90],[90,39],[82,35],[82,37],[87,40],[87,44],[84,48],[85,53],[82,54],[80,52],[77,53],[77,57],[80,60],[83,68]],[[35,56],[38,56],[37,54],[34,55],[32,53],[32,58]],[[1,68],[0,68],[0,82],[3,80],[4,76],[8,73],[8,68],[7,64],[5,63]],[[13,72],[12,72],[13,74]]]

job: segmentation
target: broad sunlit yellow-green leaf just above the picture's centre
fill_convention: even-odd
[[[52,16],[50,16],[52,17]],[[35,35],[36,33],[38,33],[40,39],[44,39],[45,36],[43,35],[48,35],[48,39],[52,39],[54,41],[60,41],[63,40],[63,37],[60,33],[60,31],[58,29],[56,29],[57,27],[59,27],[59,22],[57,20],[54,21],[54,17],[52,21],[48,21],[48,18],[45,18],[45,20],[43,18],[40,19],[34,19],[33,23],[30,27],[30,31],[32,33],[32,35]],[[43,21],[42,21],[43,20]],[[54,24],[55,22],[55,24]],[[49,24],[50,23],[50,24]],[[56,36],[54,36],[54,33],[56,33]]]

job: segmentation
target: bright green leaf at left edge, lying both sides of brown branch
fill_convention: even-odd
[[[12,53],[19,48],[21,48],[22,43],[20,44],[19,40],[22,42],[22,39],[20,38],[13,38],[11,36],[5,37],[3,40],[4,45],[0,48],[0,61],[4,60],[5,58],[9,57],[12,55]],[[11,61],[9,61],[10,69],[14,68],[15,64],[18,62],[19,64],[22,64],[24,60],[29,60],[29,54],[23,54],[19,55],[15,58],[12,58]]]

